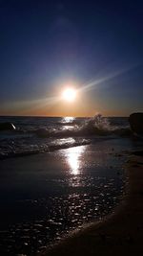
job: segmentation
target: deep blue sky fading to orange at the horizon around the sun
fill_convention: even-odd
[[[143,111],[142,24],[138,0],[0,0],[0,115]]]

